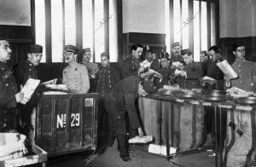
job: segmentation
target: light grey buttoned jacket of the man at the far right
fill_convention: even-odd
[[[238,60],[231,65],[238,78],[231,79],[231,87],[237,87],[246,91],[256,92],[256,63],[247,60]]]

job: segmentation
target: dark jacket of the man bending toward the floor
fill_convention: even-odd
[[[105,98],[105,106],[109,116],[118,122],[125,119],[125,113],[127,112],[132,129],[141,127],[136,107],[139,83],[140,79],[138,77],[124,78],[116,83]]]

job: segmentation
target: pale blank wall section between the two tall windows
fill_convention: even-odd
[[[123,33],[165,33],[165,0],[124,0]]]

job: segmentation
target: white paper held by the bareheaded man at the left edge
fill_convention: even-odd
[[[20,90],[20,92],[24,93],[23,99],[20,101],[21,104],[26,104],[27,101],[30,100],[31,96],[33,95],[35,89],[37,89],[38,84],[40,83],[39,79],[32,79],[29,78],[26,81],[24,87]]]

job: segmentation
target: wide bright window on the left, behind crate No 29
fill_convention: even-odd
[[[91,61],[102,52],[118,60],[117,0],[33,0],[35,42],[43,45],[42,62],[63,62],[64,45],[90,48]],[[81,55],[79,55],[81,60]]]

